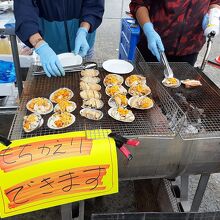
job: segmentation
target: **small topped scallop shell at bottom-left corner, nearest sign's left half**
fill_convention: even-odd
[[[30,117],[36,118],[36,121],[30,123],[30,128],[27,128],[25,125],[27,125]],[[43,123],[44,123],[44,119],[41,117],[41,115],[36,114],[36,113],[32,113],[28,116],[24,116],[23,129],[26,133],[29,133],[29,132],[32,132],[32,131],[36,130],[37,128],[41,127],[43,125]]]

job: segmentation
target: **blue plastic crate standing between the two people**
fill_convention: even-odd
[[[140,39],[140,26],[133,18],[122,18],[119,59],[133,61],[135,49]]]

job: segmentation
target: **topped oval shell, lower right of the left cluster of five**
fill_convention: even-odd
[[[48,119],[47,126],[51,129],[62,129],[72,125],[75,120],[75,116],[69,112],[56,112]]]

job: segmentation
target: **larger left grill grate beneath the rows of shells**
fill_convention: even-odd
[[[93,129],[111,129],[113,132],[117,132],[124,136],[135,137],[166,137],[173,138],[181,126],[184,118],[183,112],[180,108],[170,99],[168,93],[157,83],[155,79],[147,77],[147,84],[152,89],[152,98],[156,101],[155,107],[147,110],[132,110],[135,115],[135,121],[133,123],[123,123],[112,119],[108,114],[109,106],[107,104],[109,97],[104,92],[104,85],[102,85],[102,100],[105,103],[102,111],[104,117],[100,121],[91,121],[84,119],[80,116],[79,110],[81,109],[82,99],[79,96],[79,73],[69,73],[65,77],[47,78],[45,76],[33,77],[30,76],[32,70],[29,71],[29,81],[26,82],[25,89],[21,98],[20,108],[17,112],[14,124],[11,129],[10,138],[19,139],[33,136],[56,134],[70,131],[79,130],[93,130]],[[137,73],[134,71],[133,73]],[[140,70],[138,73],[141,74]],[[102,68],[100,68],[100,78],[103,81],[105,75],[108,74]],[[125,75],[127,77],[128,75]],[[102,82],[101,81],[101,82]],[[24,133],[22,129],[23,117],[29,112],[26,110],[26,103],[34,97],[49,97],[54,90],[60,87],[68,87],[74,92],[73,101],[77,104],[77,109],[73,112],[76,116],[76,122],[62,130],[51,130],[47,127],[47,119],[49,115],[43,116],[45,122],[44,125],[38,130],[31,133]],[[161,106],[164,106],[163,112]],[[169,117],[168,117],[169,116]]]

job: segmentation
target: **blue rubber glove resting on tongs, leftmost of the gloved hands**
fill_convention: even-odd
[[[65,76],[65,71],[52,48],[45,42],[35,49],[40,56],[40,62],[48,77]]]

